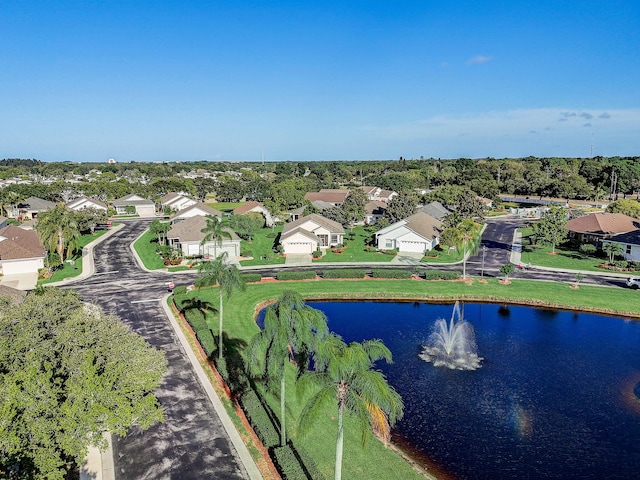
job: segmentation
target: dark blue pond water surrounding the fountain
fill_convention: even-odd
[[[379,338],[402,395],[399,435],[458,479],[640,478],[640,322],[465,304],[482,368],[418,358],[453,305],[311,302],[347,341]]]

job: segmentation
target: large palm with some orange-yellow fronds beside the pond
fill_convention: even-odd
[[[368,430],[388,438],[390,427],[402,418],[402,398],[390,386],[382,372],[373,370],[374,362],[391,363],[391,352],[380,340],[365,340],[347,345],[337,335],[326,337],[318,346],[316,370],[300,377],[298,393],[317,388],[302,410],[300,434],[308,434],[315,420],[338,403],[338,437],[334,479],[342,478],[344,443],[343,417],[351,413],[362,429],[362,442]]]

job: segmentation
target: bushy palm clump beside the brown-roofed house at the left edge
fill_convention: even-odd
[[[64,205],[40,213],[36,230],[49,252],[57,252],[61,261],[69,258],[78,246],[80,229],[75,212],[67,210]]]

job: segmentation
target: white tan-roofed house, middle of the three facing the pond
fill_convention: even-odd
[[[285,254],[313,253],[318,248],[331,247],[343,241],[342,225],[317,213],[287,223],[280,234]]]

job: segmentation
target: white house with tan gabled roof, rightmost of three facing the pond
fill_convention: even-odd
[[[379,250],[424,253],[440,242],[442,222],[424,212],[414,213],[376,233]]]

